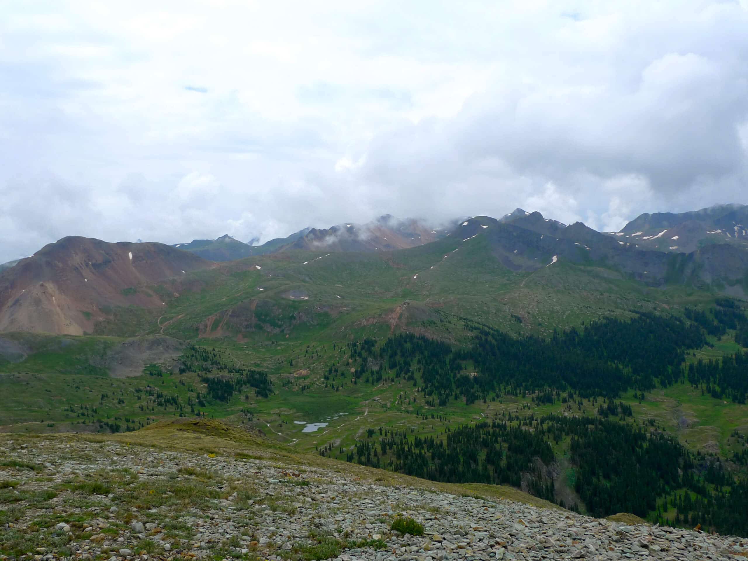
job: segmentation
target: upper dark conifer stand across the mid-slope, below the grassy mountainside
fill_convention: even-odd
[[[657,383],[673,384],[682,377],[685,349],[706,343],[698,325],[645,313],[631,321],[608,318],[581,331],[554,332],[550,340],[467,327],[475,333],[474,342],[459,349],[414,334],[390,337],[378,348],[373,340],[349,343],[358,364],[355,378],[413,381],[429,405],[447,405],[450,399],[470,405],[491,395],[548,388],[571,389],[583,398],[615,398],[632,388],[649,391]],[[465,372],[465,364],[476,372]],[[328,375],[336,369],[331,365]]]

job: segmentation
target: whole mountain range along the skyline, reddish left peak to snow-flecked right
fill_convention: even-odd
[[[640,215],[618,233],[599,233],[581,222],[567,226],[523,209],[498,220],[473,217],[440,229],[425,221],[384,215],[361,225],[305,228],[260,246],[228,235],[174,246],[69,236],[0,272],[0,330],[108,332],[114,318],[136,313],[150,317],[151,330],[160,329],[154,322],[156,314],[171,311],[175,299],[214,286],[233,286],[237,275],[248,272],[256,273],[251,298],[242,289],[245,298],[239,307],[224,305],[226,298],[204,307],[203,316],[190,328],[201,334],[238,334],[308,323],[314,313],[297,314],[292,321],[280,323],[271,318],[283,316],[289,300],[307,302],[313,309],[313,291],[351,290],[345,279],[362,283],[358,269],[367,268],[370,286],[356,286],[357,295],[371,301],[376,294],[379,301],[387,301],[390,311],[396,306],[388,298],[403,295],[426,307],[458,309],[468,301],[485,301],[488,309],[494,309],[496,304],[490,301],[494,295],[516,295],[540,272],[540,278],[557,284],[556,289],[571,291],[579,287],[564,286],[562,277],[573,275],[598,284],[615,280],[617,290],[625,284],[624,292],[681,286],[745,297],[747,214],[748,206],[726,205],[682,214]],[[462,270],[455,270],[456,263]],[[313,278],[311,272],[324,272],[325,278]],[[469,288],[477,278],[492,286]],[[456,286],[459,279],[468,284]],[[380,285],[387,289],[377,289]],[[319,298],[314,303],[334,316],[346,316],[351,309],[341,309],[343,297],[335,296],[331,300],[327,294],[322,306]],[[512,313],[532,315],[528,310]],[[217,325],[223,326],[220,329],[215,329],[216,318]],[[278,325],[271,328],[274,323]]]

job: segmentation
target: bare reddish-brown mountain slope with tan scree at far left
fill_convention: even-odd
[[[68,236],[0,272],[0,331],[83,334],[102,307],[163,305],[139,286],[211,265],[164,244]]]

